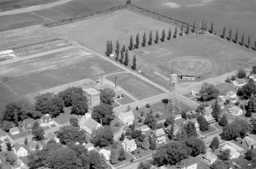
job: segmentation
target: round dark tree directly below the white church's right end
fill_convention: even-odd
[[[94,146],[106,147],[114,142],[114,133],[109,126],[97,129],[92,132],[91,142]]]

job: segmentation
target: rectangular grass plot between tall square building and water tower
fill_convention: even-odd
[[[114,83],[115,77],[118,78],[118,85],[138,98],[138,100],[143,100],[163,93],[160,89],[155,88],[155,86],[148,84],[146,81],[142,81],[130,73],[109,75],[107,79]]]

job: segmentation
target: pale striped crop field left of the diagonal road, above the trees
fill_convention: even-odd
[[[5,83],[19,95],[25,96],[33,92],[85,78],[97,80],[105,74],[121,71],[121,69],[102,60],[100,57],[87,54],[90,53],[75,48],[60,53],[36,57],[28,61],[25,60],[22,62],[23,65],[17,65],[18,63],[8,64],[8,66],[13,65],[16,70],[19,68],[19,71],[14,73],[15,79],[11,80],[13,78],[11,77],[9,80],[5,81]],[[57,59],[55,57],[57,57]],[[58,59],[58,57],[60,58]],[[51,58],[53,58],[53,60]],[[27,71],[26,65],[28,67]],[[38,66],[41,67],[39,68]],[[26,75],[21,76],[21,74],[18,73],[21,70],[24,70]],[[9,74],[11,74],[11,72]]]

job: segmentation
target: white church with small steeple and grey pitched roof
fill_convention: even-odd
[[[99,129],[102,127],[100,123],[91,118],[91,113],[85,113],[82,119],[79,121],[80,129],[85,130],[89,135],[92,134],[92,131]]]

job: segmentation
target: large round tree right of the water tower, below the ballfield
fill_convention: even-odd
[[[200,97],[199,100],[207,102],[216,99],[219,96],[219,91],[215,88],[214,85],[205,82],[202,84],[202,88],[199,91],[198,96]]]

